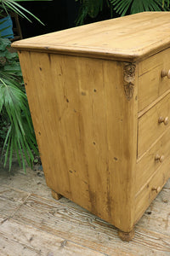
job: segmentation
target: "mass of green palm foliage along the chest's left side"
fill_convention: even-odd
[[[11,169],[13,155],[26,170],[32,166],[37,142],[31,123],[31,114],[23,86],[17,53],[11,52],[10,41],[0,38],[0,143],[3,144],[4,166],[9,160]]]

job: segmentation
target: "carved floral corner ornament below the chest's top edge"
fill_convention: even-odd
[[[135,64],[124,62],[123,63],[123,75],[124,75],[124,91],[127,100],[130,101],[133,97],[134,91],[134,79],[135,79]]]

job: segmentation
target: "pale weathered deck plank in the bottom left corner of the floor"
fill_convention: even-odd
[[[84,256],[105,256],[104,253],[82,247],[45,231],[37,230],[34,227],[15,221],[13,218],[4,222],[3,218],[0,218],[0,223],[3,223],[0,225],[0,253],[3,253],[3,255],[19,255],[20,252],[20,255],[79,256],[82,254]]]

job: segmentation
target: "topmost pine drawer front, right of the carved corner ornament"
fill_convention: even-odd
[[[170,89],[169,70],[170,49],[163,50],[139,63],[139,111]]]

